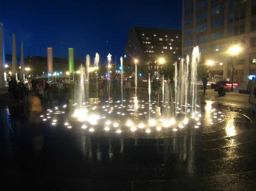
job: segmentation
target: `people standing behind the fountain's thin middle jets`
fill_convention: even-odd
[[[122,94],[122,78],[119,78],[119,80],[116,79],[116,77],[113,80],[113,89],[112,93],[115,92],[118,93],[118,96],[121,96]],[[105,77],[104,80],[99,80],[99,97],[108,97],[108,90],[109,87],[109,80]],[[117,90],[118,87],[118,90]],[[130,79],[127,78],[127,80],[124,83],[124,87],[126,90],[126,96],[130,96],[130,89],[131,89],[131,82]]]

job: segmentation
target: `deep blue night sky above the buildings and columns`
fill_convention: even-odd
[[[0,21],[7,54],[12,53],[15,33],[17,54],[23,40],[25,58],[47,56],[47,47],[53,47],[54,57],[64,57],[72,47],[78,59],[97,52],[105,61],[108,53],[112,59],[123,56],[134,26],[181,30],[182,1],[4,0]]]

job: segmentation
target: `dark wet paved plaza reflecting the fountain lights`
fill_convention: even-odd
[[[83,122],[70,117],[72,100],[44,101],[43,111],[32,113],[25,104],[1,101],[2,188],[255,190],[256,114],[251,107],[216,101],[213,95],[201,98],[198,128],[193,119],[184,128],[149,127],[148,115],[141,110],[142,116],[131,121],[138,126],[140,120],[147,127],[135,130],[126,127],[130,115],[122,112],[116,120],[119,128],[109,124],[105,130],[107,120],[114,125],[116,113],[106,113],[106,118],[98,119],[103,123],[82,128]],[[111,104],[104,101],[97,103],[100,108]]]

